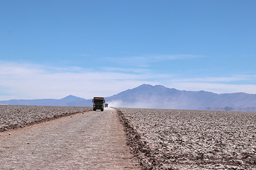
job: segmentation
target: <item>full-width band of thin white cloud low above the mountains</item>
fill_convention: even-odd
[[[256,94],[256,85],[251,83],[256,75],[191,79],[152,73],[147,69],[137,71],[122,69],[117,67],[92,71],[81,67],[61,68],[30,63],[0,62],[0,100],[61,99],[69,94],[92,99],[93,96],[113,96],[143,83],[160,84],[178,90]]]

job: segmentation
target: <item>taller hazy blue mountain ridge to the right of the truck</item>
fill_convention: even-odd
[[[213,109],[256,111],[256,94],[216,94],[208,91],[185,91],[162,85],[140,85],[106,100],[110,105],[128,108]]]

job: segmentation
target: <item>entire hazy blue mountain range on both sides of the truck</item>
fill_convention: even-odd
[[[256,94],[181,91],[162,85],[143,84],[114,96],[105,97],[105,101],[109,106],[122,108],[256,111]],[[5,100],[0,103],[5,105],[91,107],[92,99],[86,100],[70,95],[63,99]]]

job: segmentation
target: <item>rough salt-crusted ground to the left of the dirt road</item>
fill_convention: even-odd
[[[92,111],[92,108],[0,105],[0,132],[83,111]]]

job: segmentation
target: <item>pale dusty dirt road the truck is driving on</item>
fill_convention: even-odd
[[[116,110],[0,133],[0,169],[140,169]]]

